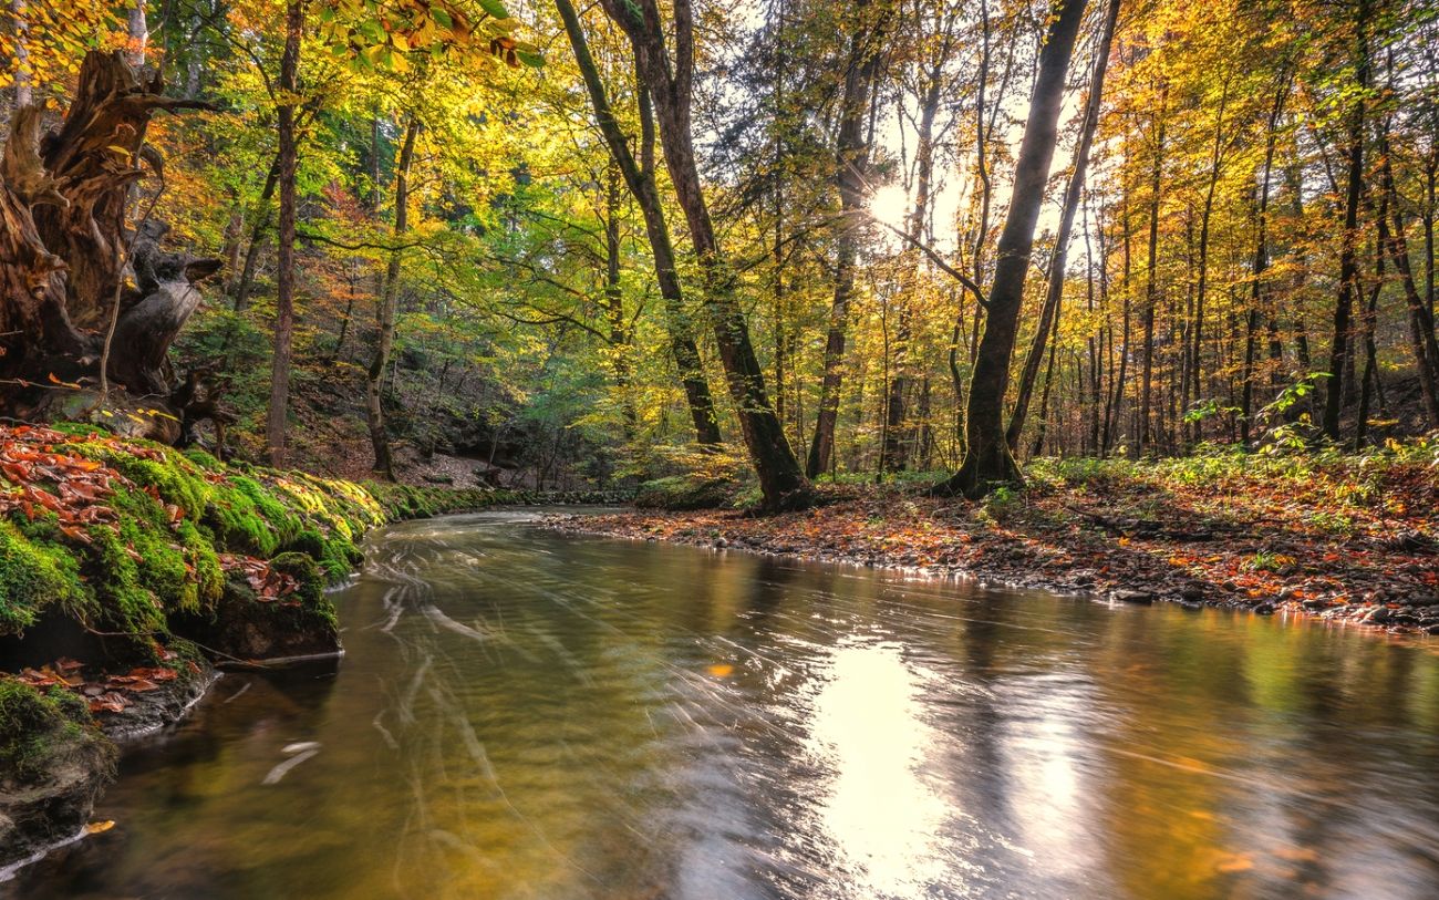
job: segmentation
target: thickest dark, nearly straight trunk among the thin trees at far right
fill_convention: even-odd
[[[1330,377],[1324,393],[1324,435],[1340,439],[1340,413],[1344,406],[1344,374],[1350,357],[1350,328],[1354,312],[1354,292],[1358,291],[1358,207],[1364,193],[1364,101],[1368,91],[1368,6],[1360,0],[1356,13],[1357,92],[1350,112],[1348,181],[1344,189],[1344,233],[1340,238],[1340,288],[1334,301],[1334,337],[1330,343]]]

